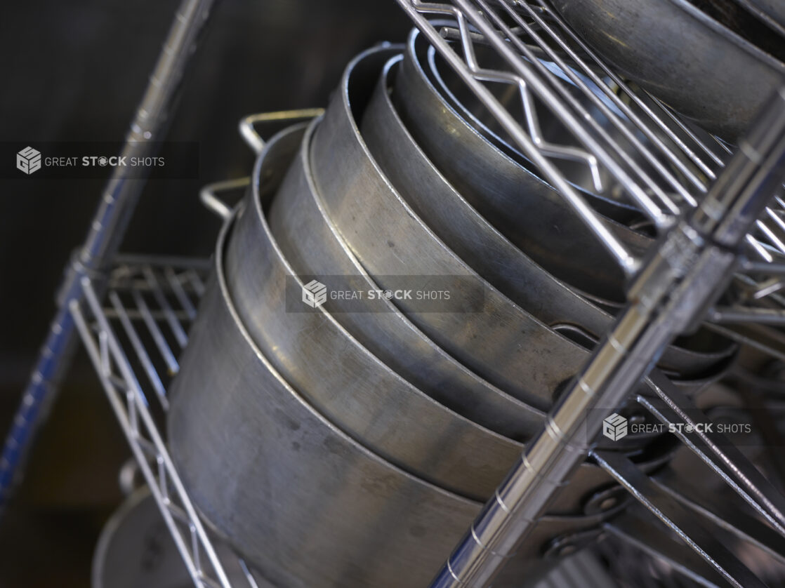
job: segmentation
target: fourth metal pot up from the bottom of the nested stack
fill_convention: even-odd
[[[484,292],[483,312],[423,314],[410,312],[406,301],[398,301],[398,307],[478,375],[536,408],[546,408],[553,390],[575,373],[581,350],[526,314],[447,249],[400,198],[359,134],[355,120],[361,118],[388,57],[378,54],[349,65],[316,130],[311,162],[327,212],[374,277],[476,279]],[[379,285],[388,287],[382,281]]]

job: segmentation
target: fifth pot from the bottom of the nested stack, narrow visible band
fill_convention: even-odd
[[[476,212],[418,147],[389,97],[398,67],[400,56],[385,65],[360,126],[385,175],[434,233],[505,296],[551,328],[577,325],[599,339],[610,328],[612,315],[517,249]],[[730,343],[714,353],[669,347],[660,364],[692,376],[720,367],[733,350]]]

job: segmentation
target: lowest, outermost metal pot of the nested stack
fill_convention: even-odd
[[[481,504],[385,462],[286,383],[228,297],[228,230],[171,389],[171,453],[195,505],[276,586],[426,586]],[[535,581],[550,539],[601,520],[543,517],[495,586]]]

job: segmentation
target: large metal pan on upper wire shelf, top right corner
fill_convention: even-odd
[[[735,142],[782,84],[785,64],[687,0],[554,0],[609,64]]]

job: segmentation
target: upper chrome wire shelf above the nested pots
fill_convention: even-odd
[[[640,267],[640,254],[608,230],[571,183],[563,162],[590,172],[597,194],[636,205],[658,234],[698,205],[728,162],[731,150],[725,143],[625,82],[546,0],[397,2],[630,275]],[[455,25],[429,20],[433,17]],[[492,63],[478,52],[479,45],[492,49]],[[502,104],[498,89],[510,86],[517,98]],[[544,136],[546,119],[560,121],[567,139],[554,143]],[[774,296],[785,288],[782,198],[765,209],[746,241],[750,259],[761,262],[754,277],[742,279],[752,296],[715,310],[710,319],[782,325],[785,300]]]

